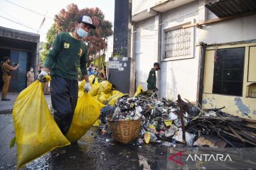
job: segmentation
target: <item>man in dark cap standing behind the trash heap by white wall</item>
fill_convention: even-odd
[[[154,63],[154,67],[149,72],[149,78],[146,80],[147,82],[147,88],[150,91],[158,90],[156,88],[156,71],[158,71],[160,68],[160,65],[158,62]]]

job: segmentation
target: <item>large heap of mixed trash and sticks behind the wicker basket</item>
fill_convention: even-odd
[[[156,91],[143,91],[136,97],[124,95],[114,106],[103,107],[100,120],[107,123],[107,115],[111,115],[112,120],[141,119],[141,131],[134,142],[137,145],[161,143],[166,147],[176,147],[177,143],[182,143],[191,147],[255,146],[256,121],[253,125],[252,121],[247,125],[245,119],[223,113],[221,109],[203,110],[189,101],[159,99]],[[233,123],[234,120],[246,122],[246,130],[238,122]],[[107,127],[102,132],[106,130]]]

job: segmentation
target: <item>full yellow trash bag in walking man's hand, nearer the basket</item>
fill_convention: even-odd
[[[70,142],[78,141],[100,117],[100,109],[104,105],[85,93],[78,99],[73,120],[66,135]]]

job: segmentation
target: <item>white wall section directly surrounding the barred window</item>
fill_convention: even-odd
[[[162,42],[164,42],[164,30],[180,26],[184,23],[194,23],[198,21],[198,1],[185,6],[175,8],[174,10],[163,13],[162,22]],[[192,55],[183,60],[165,60],[164,43],[161,50],[161,79],[160,96],[171,100],[176,100],[177,95],[189,101],[196,101],[197,83],[198,83],[198,59],[199,47],[197,34],[198,29],[193,30]]]

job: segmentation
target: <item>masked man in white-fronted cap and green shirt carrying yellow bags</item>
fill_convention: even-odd
[[[78,101],[78,67],[85,79],[85,91],[90,91],[90,81],[87,76],[87,45],[82,41],[91,29],[95,29],[89,16],[82,16],[75,22],[73,33],[63,32],[56,36],[50,52],[46,57],[38,79],[50,72],[50,97],[54,109],[54,119],[63,135],[66,135]]]

